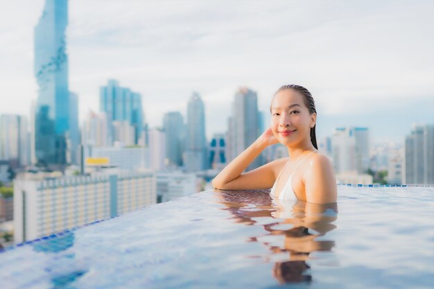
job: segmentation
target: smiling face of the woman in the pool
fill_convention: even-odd
[[[284,89],[272,99],[270,127],[280,143],[289,146],[306,138],[310,142],[315,121],[316,114],[309,112],[304,97],[298,91]]]

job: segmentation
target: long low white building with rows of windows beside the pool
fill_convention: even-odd
[[[118,216],[155,200],[152,173],[19,175],[14,182],[15,242]]]

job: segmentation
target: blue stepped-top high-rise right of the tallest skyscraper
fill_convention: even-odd
[[[120,87],[117,80],[108,80],[100,88],[100,108],[110,122],[126,121],[134,128],[134,143],[138,143],[144,126],[144,112],[141,106],[141,94],[129,88]]]

